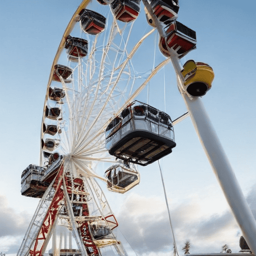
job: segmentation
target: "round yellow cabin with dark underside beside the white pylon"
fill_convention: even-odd
[[[203,96],[211,88],[214,79],[214,72],[208,64],[194,62],[192,59],[185,62],[181,74],[185,90],[195,97]]]

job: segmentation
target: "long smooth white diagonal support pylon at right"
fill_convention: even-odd
[[[159,35],[165,37],[165,31],[161,23],[153,14],[147,0],[142,1],[147,11],[151,14]],[[246,202],[217,134],[211,125],[202,101],[199,97],[189,96],[183,89],[183,77],[180,73],[181,66],[179,64],[179,59],[172,49],[168,48],[168,51],[170,53],[172,65],[176,72],[178,88],[185,101],[187,110],[191,116],[192,123],[202,144],[204,152],[210,162],[213,172],[217,177],[220,187],[222,188],[231,211],[243,233],[243,236],[248,243],[249,248],[251,249],[252,253],[256,255],[256,222],[252,212]]]

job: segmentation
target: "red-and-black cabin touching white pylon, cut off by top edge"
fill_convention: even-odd
[[[165,25],[168,25],[178,17],[178,0],[151,0],[150,5],[157,19]],[[152,24],[149,19],[148,22],[149,25]]]

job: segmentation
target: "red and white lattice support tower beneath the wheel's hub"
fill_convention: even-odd
[[[118,223],[97,182],[92,177],[65,173],[63,164],[42,197],[17,255],[43,255],[57,219],[66,220],[78,253],[97,256],[101,247],[113,246],[119,255],[125,255],[112,232]]]

